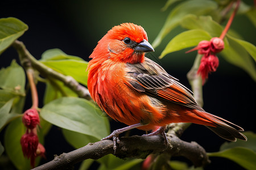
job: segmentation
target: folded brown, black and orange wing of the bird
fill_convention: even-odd
[[[145,57],[143,63],[127,63],[126,69],[127,84],[134,90],[203,111],[192,92],[151,59]]]

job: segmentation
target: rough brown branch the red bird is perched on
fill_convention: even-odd
[[[166,150],[164,139],[161,135],[148,137],[132,136],[122,137],[115,156],[118,158],[146,158],[149,154],[166,153],[172,156],[184,156],[191,160],[196,166],[204,166],[210,163],[210,160],[204,148],[196,142],[185,142],[176,135],[168,137],[170,145]],[[40,165],[34,170],[43,169],[67,169],[72,168],[74,164],[85,159],[100,159],[101,157],[113,154],[113,141],[104,140],[96,143],[89,143],[75,151],[63,153],[60,156],[55,156],[51,162]]]

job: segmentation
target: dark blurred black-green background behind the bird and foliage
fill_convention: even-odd
[[[171,11],[171,8],[167,11],[160,10],[165,3],[166,1],[147,0],[1,1],[0,18],[13,16],[28,25],[28,31],[19,40],[24,42],[30,53],[37,59],[40,59],[45,50],[59,48],[67,54],[89,61],[88,57],[97,45],[97,41],[114,25],[123,22],[142,25],[147,32],[149,42],[152,42]],[[241,33],[246,41],[256,44],[255,27],[245,16],[236,16],[232,28]],[[180,29],[183,28],[177,27],[172,31],[149,57],[190,88],[186,74],[191,69],[196,52],[185,54],[185,50],[182,50],[158,59],[168,41]],[[14,58],[18,61],[18,55],[13,48],[7,49],[0,57],[0,67],[9,66]],[[242,69],[230,65],[221,56],[219,59],[220,66],[216,73],[209,76],[208,82],[203,87],[204,109],[232,121],[246,131],[256,132],[255,82]],[[42,84],[39,84],[39,87],[44,88]],[[42,107],[43,94],[43,90],[39,91],[39,107]],[[30,104],[26,106],[26,108],[29,107]],[[114,121],[110,124],[112,130],[125,126]],[[131,134],[138,133],[131,132]],[[207,152],[218,151],[220,145],[225,142],[224,139],[200,125],[189,127],[181,138],[185,141],[196,141]],[[44,146],[47,150],[47,160],[43,162],[52,160],[54,154],[60,155],[62,152],[73,150],[65,142],[61,130],[56,126],[53,126],[47,135]],[[223,169],[243,169],[227,159],[211,158],[211,160],[212,164],[205,169],[221,169],[220,166],[223,167],[224,164]]]

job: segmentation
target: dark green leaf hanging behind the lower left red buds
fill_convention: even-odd
[[[24,158],[20,138],[25,133],[26,127],[22,124],[22,118],[16,118],[12,121],[5,131],[5,150],[11,162],[19,170],[31,169],[30,160]],[[36,165],[40,158],[36,158]]]

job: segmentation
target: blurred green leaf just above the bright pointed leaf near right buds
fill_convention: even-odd
[[[196,16],[189,14],[184,16],[181,21],[181,27],[187,29],[203,29],[212,37],[219,37],[222,33],[221,25],[214,22],[211,16]]]

